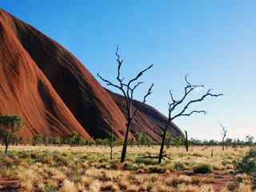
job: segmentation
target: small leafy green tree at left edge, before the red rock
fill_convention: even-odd
[[[22,118],[18,115],[0,116],[0,137],[2,138],[7,153],[8,146],[15,138],[15,133],[22,127]]]

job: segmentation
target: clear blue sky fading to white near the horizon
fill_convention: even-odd
[[[147,102],[164,114],[169,90],[179,97],[186,74],[190,82],[223,93],[194,106],[206,116],[175,121],[190,137],[220,140],[218,121],[230,138],[256,136],[254,0],[2,0],[0,7],[65,46],[94,75],[114,80],[118,44],[124,77],[154,64],[136,98],[154,82]]]

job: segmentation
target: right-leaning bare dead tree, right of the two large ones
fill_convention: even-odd
[[[208,90],[206,92],[206,94],[203,94],[201,98],[197,98],[194,100],[190,100],[190,102],[187,102],[185,106],[183,106],[182,110],[180,110],[180,112],[178,112],[178,114],[173,114],[174,111],[176,111],[176,109],[178,108],[178,106],[181,106],[185,101],[186,98],[188,98],[188,96],[192,93],[192,91],[198,87],[204,87],[203,85],[192,85],[190,84],[190,82],[188,82],[187,80],[188,75],[186,75],[185,77],[185,81],[186,81],[186,86],[184,87],[184,94],[182,96],[181,99],[176,100],[174,99],[174,95],[172,94],[171,90],[170,90],[170,98],[171,98],[171,102],[168,103],[169,105],[169,109],[168,109],[168,120],[166,122],[166,126],[163,130],[163,134],[162,134],[162,142],[161,142],[161,147],[160,147],[160,152],[158,155],[158,164],[160,164],[162,162],[162,157],[164,156],[163,154],[163,150],[164,150],[164,146],[165,146],[165,140],[166,140],[166,133],[168,130],[168,127],[170,126],[171,122],[174,121],[174,119],[182,117],[182,116],[190,116],[191,114],[206,114],[206,110],[192,110],[190,112],[186,112],[186,110],[189,109],[189,107],[194,104],[195,102],[202,102],[205,98],[207,97],[219,97],[222,94],[212,94],[211,90]]]

